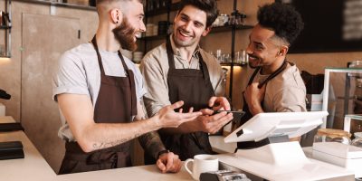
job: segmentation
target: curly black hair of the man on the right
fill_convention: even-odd
[[[300,13],[291,5],[281,3],[260,7],[258,21],[263,27],[273,30],[278,37],[290,44],[297,39],[304,27]]]

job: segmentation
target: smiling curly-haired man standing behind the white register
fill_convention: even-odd
[[[290,5],[273,3],[258,11],[258,24],[246,49],[249,66],[255,69],[243,92],[242,124],[262,112],[306,111],[306,88],[300,71],[286,59],[291,43],[303,29],[300,14]],[[261,142],[238,143],[238,148],[255,148]]]

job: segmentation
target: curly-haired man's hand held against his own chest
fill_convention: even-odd
[[[258,88],[259,82],[253,82],[251,85],[246,87],[243,92],[243,98],[249,106],[249,110],[252,115],[262,112],[262,100],[265,96],[265,85],[262,88]]]

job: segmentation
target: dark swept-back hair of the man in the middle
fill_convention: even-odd
[[[182,0],[179,12],[181,12],[186,5],[193,5],[206,13],[206,27],[210,27],[211,24],[214,23],[217,14],[219,14],[215,0]]]

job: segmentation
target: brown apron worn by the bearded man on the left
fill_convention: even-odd
[[[134,74],[127,67],[121,53],[119,58],[126,71],[126,77],[107,76],[98,50],[95,36],[91,43],[97,52],[100,64],[100,92],[94,108],[96,123],[128,123],[137,114]],[[82,151],[77,142],[65,143],[65,156],[59,174],[131,167],[130,141],[112,148],[90,153]]]

